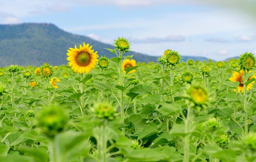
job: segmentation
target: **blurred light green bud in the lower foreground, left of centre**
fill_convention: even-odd
[[[91,109],[95,117],[107,120],[113,120],[117,116],[116,110],[116,107],[113,107],[111,103],[106,101],[96,103]]]

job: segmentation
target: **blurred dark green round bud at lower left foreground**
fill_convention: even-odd
[[[44,109],[38,116],[38,127],[48,137],[54,137],[65,129],[67,116],[62,109],[58,107],[49,107]]]

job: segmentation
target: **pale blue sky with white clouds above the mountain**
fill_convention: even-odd
[[[53,23],[104,43],[123,36],[132,50],[224,60],[256,53],[256,0],[0,0],[0,24]]]

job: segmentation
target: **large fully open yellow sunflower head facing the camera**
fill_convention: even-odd
[[[80,45],[79,48],[75,45],[74,48],[67,50],[67,60],[70,61],[68,64],[74,72],[78,72],[79,74],[86,72],[88,74],[95,68],[99,55],[97,55],[97,51],[94,52],[91,48],[92,46],[89,47],[89,44],[83,43],[83,46]]]

